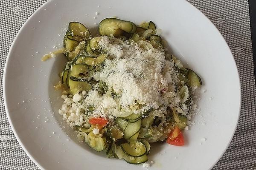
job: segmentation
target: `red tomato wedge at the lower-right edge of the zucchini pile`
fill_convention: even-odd
[[[170,136],[168,137],[166,142],[169,144],[175,145],[175,146],[183,146],[184,145],[183,134],[181,133],[180,129],[177,126],[170,133]]]

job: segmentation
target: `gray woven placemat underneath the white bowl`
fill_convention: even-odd
[[[27,18],[47,0],[0,1],[0,170],[39,169],[15,139],[3,104],[3,70],[11,43]],[[212,170],[256,170],[256,88],[247,0],[188,0],[217,26],[236,59],[242,105],[236,133]]]

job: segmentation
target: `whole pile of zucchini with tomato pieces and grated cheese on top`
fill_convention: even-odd
[[[150,143],[182,146],[182,130],[195,112],[201,78],[168,54],[153,22],[139,26],[106,18],[99,36],[70,22],[64,48],[67,64],[56,86],[63,120],[93,150],[131,164],[148,161]]]

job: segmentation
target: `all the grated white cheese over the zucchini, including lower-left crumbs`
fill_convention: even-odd
[[[131,113],[151,111],[154,116],[165,117],[167,108],[178,107],[188,117],[188,125],[193,124],[191,113],[197,111],[197,105],[192,101],[189,108],[181,103],[179,91],[175,90],[179,73],[166,54],[107,36],[100,37],[99,46],[110,55],[92,78],[104,82],[108,89],[102,94],[98,83],[91,91],[61,96],[64,103],[59,113],[71,127],[85,126],[90,117],[99,116],[107,118],[110,125],[115,117]],[[192,88],[192,94],[195,89]],[[98,132],[95,129],[93,133]]]

